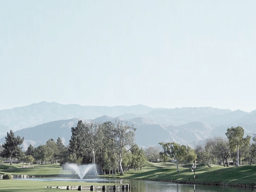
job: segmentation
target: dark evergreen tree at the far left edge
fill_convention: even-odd
[[[5,143],[3,146],[3,151],[1,151],[0,156],[2,157],[9,157],[10,165],[12,165],[12,159],[14,157],[18,157],[21,152],[22,148],[20,145],[23,143],[24,137],[21,139],[20,136],[15,137],[12,130],[10,133],[7,132],[7,136],[5,137]]]

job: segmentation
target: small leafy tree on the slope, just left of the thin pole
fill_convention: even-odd
[[[163,147],[163,154],[165,156],[172,157],[176,160],[177,172],[179,172],[179,162],[186,156],[187,147],[185,145],[180,146],[178,143],[175,142],[160,142],[159,145]]]

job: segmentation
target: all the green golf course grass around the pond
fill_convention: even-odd
[[[192,164],[179,165],[177,172],[174,163],[150,163],[139,171],[127,171],[124,175],[114,175],[117,178],[128,179],[147,179],[161,181],[175,181],[182,183],[194,183],[194,173],[191,172]],[[45,175],[54,177],[58,174],[67,174],[59,165],[35,165],[33,167],[23,168],[22,164],[6,165],[0,164],[0,174],[28,174]],[[71,174],[70,172],[68,174]],[[158,177],[156,178],[156,175]],[[223,167],[221,165],[212,165],[207,167],[205,164],[198,164],[196,168],[196,183],[211,185],[229,185],[239,187],[256,186],[256,165],[242,165]],[[109,175],[100,175],[109,177]],[[86,183],[86,185],[95,185],[95,183]],[[71,186],[81,185],[81,182],[68,181],[29,181],[29,180],[0,180],[0,191],[54,191],[56,189],[45,188],[45,186]],[[97,183],[100,185],[100,183]],[[58,191],[67,191],[58,189]]]

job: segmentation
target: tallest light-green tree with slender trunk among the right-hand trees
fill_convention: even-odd
[[[235,151],[237,149],[237,165],[239,164],[239,147],[242,147],[247,140],[244,140],[244,129],[241,126],[231,127],[227,129],[226,136],[229,141],[230,149]],[[247,135],[248,137],[249,135]],[[250,137],[250,136],[249,136]],[[247,145],[247,143],[246,143]],[[250,141],[249,141],[250,145]],[[240,162],[241,164],[241,162]]]

